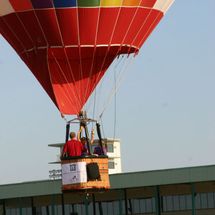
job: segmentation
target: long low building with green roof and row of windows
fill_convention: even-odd
[[[0,215],[214,215],[215,165],[120,173],[111,189],[62,193],[61,180],[0,185]]]

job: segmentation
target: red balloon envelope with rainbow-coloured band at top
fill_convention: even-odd
[[[0,33],[59,111],[77,115],[114,59],[137,54],[172,3],[0,0]]]

